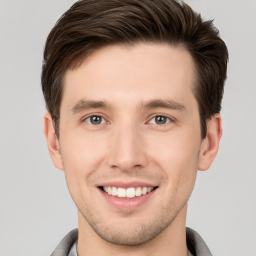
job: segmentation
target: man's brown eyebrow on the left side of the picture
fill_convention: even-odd
[[[91,108],[108,108],[111,109],[112,106],[105,101],[95,101],[95,100],[85,100],[85,99],[81,99],[78,100],[74,106],[72,107],[71,111],[73,113],[78,113],[81,112],[83,110],[88,110]]]

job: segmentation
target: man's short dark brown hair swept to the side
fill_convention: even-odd
[[[47,37],[41,73],[57,137],[65,71],[99,47],[138,42],[181,46],[191,54],[205,137],[207,120],[221,109],[228,52],[212,20],[177,0],[79,0],[63,13]]]

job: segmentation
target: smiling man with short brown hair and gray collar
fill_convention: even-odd
[[[185,227],[222,133],[228,53],[175,0],[80,0],[44,49],[44,134],[78,209],[52,255],[211,255]]]

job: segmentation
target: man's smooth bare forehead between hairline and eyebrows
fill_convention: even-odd
[[[193,70],[191,55],[180,47],[148,43],[103,47],[66,71],[61,106],[83,98],[112,105],[169,97],[185,101],[193,96]]]

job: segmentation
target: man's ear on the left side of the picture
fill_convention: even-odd
[[[48,151],[54,166],[63,170],[59,142],[54,131],[53,121],[49,112],[43,115],[43,133],[47,141]]]

